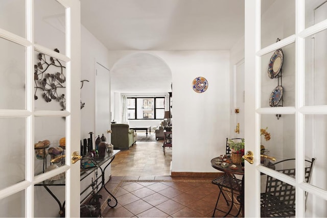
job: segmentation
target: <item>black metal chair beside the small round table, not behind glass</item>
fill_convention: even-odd
[[[242,140],[243,138],[231,138],[231,140]],[[228,138],[226,138],[226,156],[227,157],[230,157],[231,155],[231,149],[229,147],[229,142],[228,142]],[[217,202],[216,202],[216,206],[215,206],[215,210],[214,210],[214,213],[213,213],[213,217],[215,217],[215,212],[216,210],[219,210],[219,211],[222,211],[220,209],[217,208],[217,205],[218,205],[218,202],[219,202],[219,199],[220,199],[220,196],[222,195],[226,201],[226,204],[229,206],[229,203],[231,203],[230,205],[230,209],[228,212],[226,211],[222,211],[222,212],[226,212],[226,213],[229,213],[230,210],[232,209],[232,206],[233,204],[235,203],[234,202],[234,199],[233,199],[233,195],[235,192],[238,192],[239,193],[239,196],[237,197],[237,200],[239,201],[238,204],[243,204],[243,198],[241,197],[241,192],[242,192],[242,179],[238,179],[236,178],[235,175],[233,174],[224,174],[223,176],[220,176],[214,180],[212,180],[212,183],[217,185],[218,188],[219,188],[219,194],[218,194],[218,198],[217,198]],[[228,200],[225,196],[225,193],[224,191],[227,193],[232,193],[232,197],[230,200]],[[241,207],[239,208],[239,212],[238,214],[240,213],[241,211]],[[238,215],[237,214],[237,215]],[[236,216],[237,216],[236,215]]]

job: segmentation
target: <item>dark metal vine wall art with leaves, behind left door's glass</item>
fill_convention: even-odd
[[[59,53],[58,49],[55,49],[54,51]],[[63,66],[57,58],[53,58],[42,53],[39,53],[37,58],[39,62],[34,65],[34,99],[38,99],[37,90],[41,89],[43,91],[42,97],[45,102],[51,102],[52,100],[55,100],[60,103],[62,110],[65,110],[65,94],[60,94],[60,92],[58,93],[58,90],[60,88],[65,88],[66,67]],[[56,67],[58,71],[56,70],[57,72],[54,72],[53,74],[46,73],[45,71],[48,70],[51,66]]]

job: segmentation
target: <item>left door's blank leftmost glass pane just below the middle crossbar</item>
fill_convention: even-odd
[[[2,140],[0,189],[2,189],[25,180],[26,118],[1,118],[0,126],[3,127],[0,131]]]

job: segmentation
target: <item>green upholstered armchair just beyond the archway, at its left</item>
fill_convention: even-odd
[[[127,150],[134,145],[134,131],[128,124],[111,124],[111,144],[114,149]]]

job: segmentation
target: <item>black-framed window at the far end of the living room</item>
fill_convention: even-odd
[[[163,119],[165,97],[128,97],[128,119]]]

